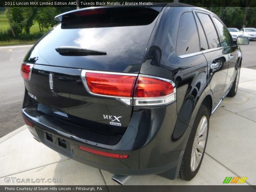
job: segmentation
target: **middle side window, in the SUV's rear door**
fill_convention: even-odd
[[[210,16],[204,13],[196,13],[196,14],[198,15],[198,18],[203,25],[204,32],[208,40],[209,48],[212,49],[212,48],[219,47],[220,41]]]

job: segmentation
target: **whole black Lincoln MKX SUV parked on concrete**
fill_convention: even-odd
[[[115,174],[191,180],[209,118],[235,96],[242,53],[212,12],[184,4],[96,7],[60,23],[27,53],[22,115],[34,138]]]

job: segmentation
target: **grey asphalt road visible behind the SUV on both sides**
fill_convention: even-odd
[[[30,47],[0,47],[0,138],[24,125],[20,115],[24,94],[20,65]],[[243,67],[256,69],[256,41],[242,45],[241,49]]]

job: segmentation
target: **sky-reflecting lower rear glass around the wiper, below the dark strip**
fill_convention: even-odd
[[[156,20],[149,25],[102,28],[88,28],[88,25],[82,28],[66,23],[63,29],[62,24],[59,24],[36,43],[25,61],[60,67],[138,73]],[[60,46],[97,50],[107,55],[63,56],[55,50]]]

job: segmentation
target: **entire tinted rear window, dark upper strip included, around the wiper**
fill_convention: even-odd
[[[98,8],[89,12],[87,9],[86,12],[82,10],[59,15],[61,23],[31,49],[25,61],[88,70],[138,73],[159,12],[151,8],[115,9]],[[74,46],[106,54],[65,56],[55,49],[61,46]]]

